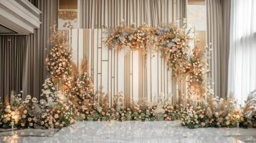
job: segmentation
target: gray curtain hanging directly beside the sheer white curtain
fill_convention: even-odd
[[[211,77],[216,96],[227,97],[230,0],[207,0],[207,44],[211,46]]]

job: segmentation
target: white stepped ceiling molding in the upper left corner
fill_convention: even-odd
[[[27,0],[0,0],[0,34],[32,34],[41,11]]]

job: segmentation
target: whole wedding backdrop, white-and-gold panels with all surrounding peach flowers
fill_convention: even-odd
[[[190,49],[191,33],[192,29],[176,24],[131,25],[109,29],[106,34],[103,29],[73,29],[70,39],[69,34],[58,31],[54,25],[42,98],[38,102],[29,95],[22,101],[22,93],[6,96],[0,111],[1,127],[52,129],[69,126],[75,120],[175,119],[189,128],[254,127],[255,93],[250,94],[242,109],[235,106],[233,99],[215,98],[206,76],[209,48]],[[72,50],[70,42],[77,48]],[[136,56],[137,64],[133,63]],[[153,65],[152,61],[157,62]],[[152,84],[148,85],[147,80],[152,77],[144,77],[148,65],[155,69],[161,65],[160,70],[151,71],[157,77],[153,84],[157,86],[152,88],[155,96],[152,89],[147,90]],[[170,83],[164,79],[169,70]],[[166,74],[159,77],[159,71]],[[165,84],[171,86],[164,87]],[[105,91],[103,86],[107,87]],[[165,88],[174,94],[169,95]],[[158,95],[159,91],[167,95]]]

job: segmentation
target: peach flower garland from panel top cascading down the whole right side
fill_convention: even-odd
[[[204,76],[207,74],[207,62],[204,54],[207,49],[195,48],[192,56],[189,55],[189,34],[192,29],[179,29],[174,24],[152,27],[119,26],[108,36],[106,44],[110,49],[128,46],[132,50],[147,51],[147,45],[154,45],[167,60],[168,67],[173,69],[179,79],[187,79],[188,90],[197,90],[197,97],[204,97]]]

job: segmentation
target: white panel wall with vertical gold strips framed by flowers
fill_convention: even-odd
[[[70,35],[75,64],[80,66],[88,59],[95,92],[108,92],[110,104],[118,92],[123,92],[126,103],[131,99],[153,101],[158,96],[176,102],[176,95],[185,93],[184,81],[172,81],[171,69],[160,52],[145,55],[128,48],[108,49],[106,29],[72,29]]]

